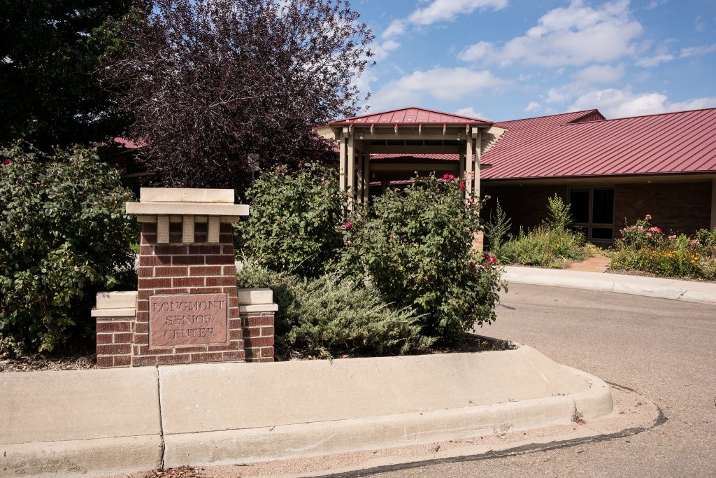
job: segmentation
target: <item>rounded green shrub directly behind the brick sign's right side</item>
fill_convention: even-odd
[[[319,277],[342,245],[343,195],[335,171],[306,164],[261,174],[246,196],[251,215],[237,226],[236,250],[274,271]]]

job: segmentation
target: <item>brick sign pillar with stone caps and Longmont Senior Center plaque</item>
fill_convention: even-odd
[[[142,188],[127,212],[142,224],[135,310],[98,297],[97,365],[272,361],[273,295],[236,288],[231,223],[248,206],[233,190]]]

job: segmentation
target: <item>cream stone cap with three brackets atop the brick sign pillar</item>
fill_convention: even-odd
[[[158,242],[169,242],[169,223],[183,223],[185,244],[194,242],[194,224],[208,223],[208,242],[218,242],[218,225],[248,216],[246,204],[233,204],[233,189],[141,188],[140,201],[127,203],[137,221],[157,224]]]

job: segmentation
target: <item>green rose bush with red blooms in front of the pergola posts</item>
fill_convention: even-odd
[[[463,199],[455,178],[444,179],[415,178],[358,208],[345,225],[342,270],[357,285],[369,278],[385,302],[412,307],[423,333],[450,343],[495,320],[502,283],[495,260],[472,249],[480,204]]]

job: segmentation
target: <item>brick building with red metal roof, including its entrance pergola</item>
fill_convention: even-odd
[[[515,226],[558,194],[576,225],[611,242],[646,214],[665,230],[716,224],[716,108],[608,120],[598,110],[492,123],[411,107],[316,128],[341,152],[342,188],[367,201],[415,171],[459,174]],[[354,175],[346,174],[354,171]]]

